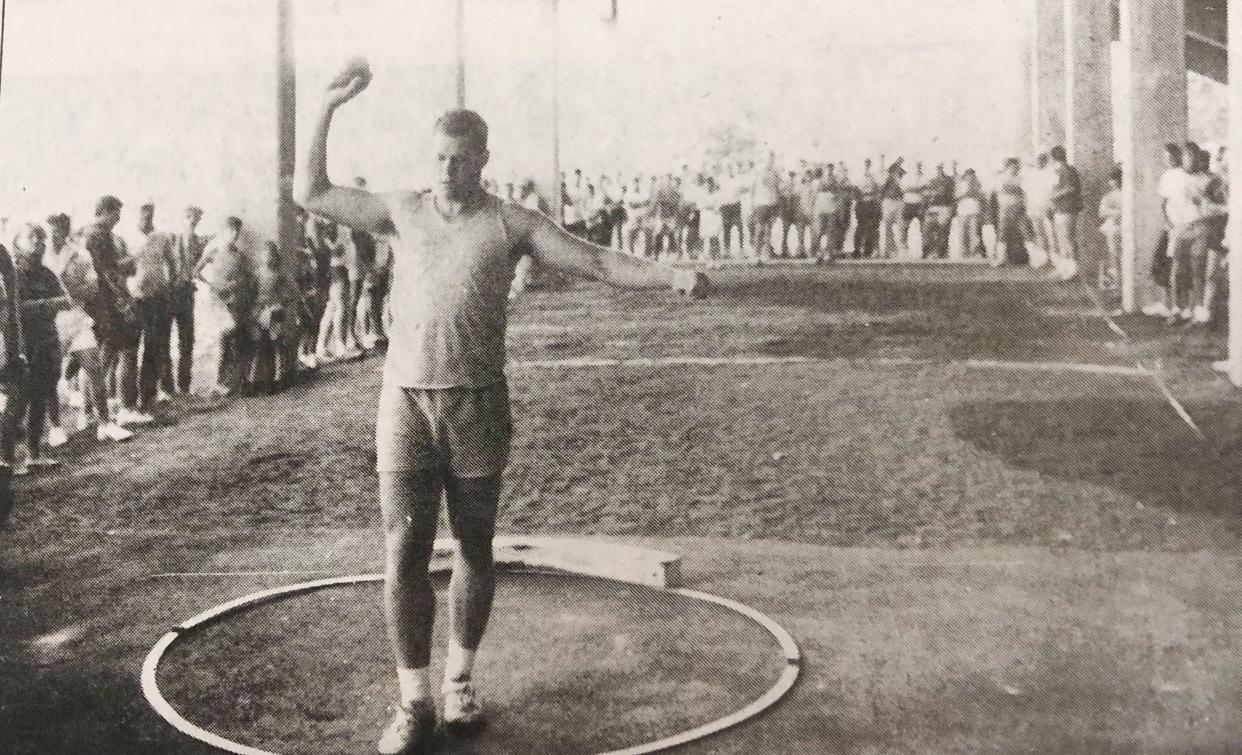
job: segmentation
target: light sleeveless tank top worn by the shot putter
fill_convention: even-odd
[[[396,235],[384,381],[421,389],[503,382],[517,257],[502,200],[484,194],[473,214],[448,221],[430,192],[386,199]]]

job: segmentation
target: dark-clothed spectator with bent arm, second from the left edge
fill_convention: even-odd
[[[61,348],[56,338],[56,313],[71,304],[52,271],[43,266],[47,236],[42,227],[27,225],[14,240],[17,252],[17,288],[21,299],[21,333],[26,349],[26,401],[14,411],[26,416],[26,447],[31,467],[55,467],[45,458],[45,420],[63,435],[60,423],[57,384],[61,376]],[[25,410],[25,411],[24,411]],[[51,438],[50,438],[51,440]]]

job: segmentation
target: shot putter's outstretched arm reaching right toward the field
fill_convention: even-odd
[[[707,296],[707,276],[609,250],[569,233],[546,215],[513,209],[512,220],[530,242],[535,262],[561,272],[622,288],[672,288],[694,298]]]

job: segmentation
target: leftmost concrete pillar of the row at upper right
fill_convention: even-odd
[[[1064,0],[1031,0],[1031,144],[1066,140]]]

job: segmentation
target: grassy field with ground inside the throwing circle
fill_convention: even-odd
[[[1131,353],[1078,284],[1028,271],[714,279],[707,302],[595,284],[517,302],[501,524],[683,553],[696,587],[795,633],[792,695],[692,751],[1242,741],[1242,400],[1206,368],[1217,337],[1123,318]],[[1145,378],[1054,368],[1134,354],[1165,365],[1206,442]],[[0,533],[0,751],[201,751],[147,708],[143,656],[170,623],[309,577],[155,575],[376,570],[379,369],[183,401],[132,443],[75,443],[19,483]],[[632,744],[740,707],[779,662],[744,623],[558,585],[505,582],[484,653],[497,726],[453,751]],[[166,684],[247,741],[369,751],[394,687],[381,636],[365,589],[292,599],[186,643]]]

